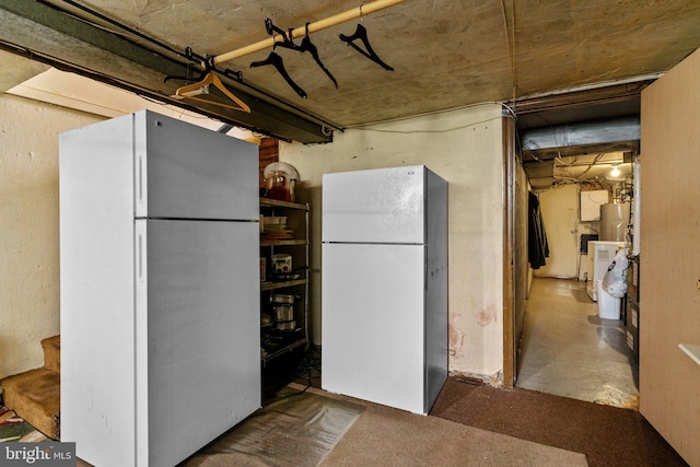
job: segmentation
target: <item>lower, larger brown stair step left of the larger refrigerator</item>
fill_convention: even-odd
[[[45,367],[0,380],[4,406],[38,431],[58,440],[60,373]]]

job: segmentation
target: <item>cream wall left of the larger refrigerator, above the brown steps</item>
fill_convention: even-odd
[[[0,94],[0,377],[59,334],[58,135],[103,119]]]

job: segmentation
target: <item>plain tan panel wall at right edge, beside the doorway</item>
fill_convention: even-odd
[[[642,92],[640,411],[700,466],[700,51]]]

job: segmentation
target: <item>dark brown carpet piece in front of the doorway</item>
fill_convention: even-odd
[[[451,377],[430,415],[584,453],[591,467],[687,466],[635,410]]]

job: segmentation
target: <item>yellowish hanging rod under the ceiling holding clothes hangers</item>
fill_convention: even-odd
[[[348,21],[366,16],[368,14],[374,13],[375,11],[384,10],[385,8],[393,7],[398,3],[402,3],[406,0],[375,0],[370,3],[363,3],[362,5],[354,8],[352,10],[348,10],[342,13],[334,14],[332,16],[328,16],[325,20],[319,20],[314,23],[308,24],[308,34],[316,33],[318,31],[346,23]],[[306,26],[298,27],[290,32],[290,39],[295,39],[298,37],[303,37],[306,35]],[[273,35],[265,40],[257,42],[255,44],[250,44],[245,47],[241,47],[238,49],[228,51],[224,54],[220,54],[213,57],[213,63],[219,65],[224,61],[231,61],[236,58],[254,54],[256,51],[265,50],[266,48],[270,48],[275,45],[276,42],[282,42],[283,37],[279,35]]]

